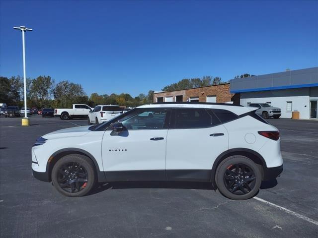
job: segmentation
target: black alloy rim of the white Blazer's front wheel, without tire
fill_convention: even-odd
[[[59,186],[69,193],[81,191],[88,181],[87,171],[77,162],[62,164],[57,176]]]

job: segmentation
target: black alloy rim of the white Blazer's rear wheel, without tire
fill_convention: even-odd
[[[226,188],[233,194],[243,195],[250,192],[255,186],[255,173],[247,165],[230,165],[224,174]]]

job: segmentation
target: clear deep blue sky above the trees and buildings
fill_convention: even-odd
[[[160,90],[182,78],[318,66],[318,1],[1,1],[0,74],[85,92]]]

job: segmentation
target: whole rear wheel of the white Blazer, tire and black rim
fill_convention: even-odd
[[[239,168],[238,172],[243,174],[239,173],[238,176],[237,168]],[[246,173],[244,174],[244,172]],[[258,192],[262,175],[258,166],[252,160],[245,156],[234,155],[220,163],[215,174],[215,181],[219,191],[224,196],[234,200],[245,200],[253,197]]]

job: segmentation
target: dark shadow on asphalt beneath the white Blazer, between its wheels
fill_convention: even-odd
[[[173,188],[173,189],[201,189],[215,190],[210,182],[178,182],[178,181],[127,181],[127,182],[108,182],[100,183],[89,195],[99,193],[108,189],[129,189],[129,188]]]

